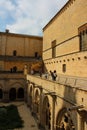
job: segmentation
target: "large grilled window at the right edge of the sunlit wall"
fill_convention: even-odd
[[[87,24],[79,27],[80,51],[87,50]]]

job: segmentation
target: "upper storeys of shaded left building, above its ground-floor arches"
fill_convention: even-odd
[[[0,71],[22,71],[42,58],[42,37],[0,32]]]

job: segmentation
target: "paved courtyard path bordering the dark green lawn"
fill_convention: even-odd
[[[20,116],[24,120],[24,128],[15,129],[15,130],[39,130],[37,123],[35,119],[33,118],[33,116],[31,115],[31,112],[25,102],[12,102],[12,103],[6,103],[6,104],[0,103],[0,106],[9,105],[9,104],[14,104],[18,107]]]

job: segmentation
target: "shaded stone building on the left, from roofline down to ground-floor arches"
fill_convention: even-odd
[[[0,101],[24,100],[25,74],[42,62],[42,37],[0,32]],[[23,73],[24,72],[24,73]]]

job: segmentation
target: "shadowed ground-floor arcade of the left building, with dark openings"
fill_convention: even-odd
[[[24,100],[25,89],[23,84],[16,83],[11,84],[8,89],[4,85],[0,85],[0,101],[21,101]]]

